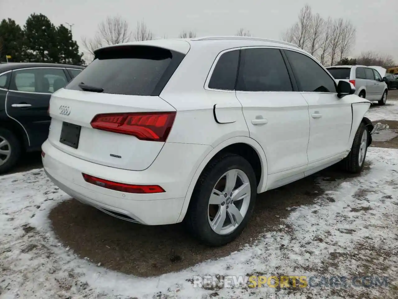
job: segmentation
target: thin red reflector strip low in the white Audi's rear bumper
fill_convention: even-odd
[[[123,183],[116,183],[113,181],[107,181],[100,179],[98,177],[93,177],[92,175],[87,175],[82,173],[84,181],[87,183],[97,185],[103,188],[112,189],[115,191],[125,192],[125,193],[162,193],[166,192],[164,189],[158,185],[129,185]]]

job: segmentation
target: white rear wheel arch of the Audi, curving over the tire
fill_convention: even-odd
[[[245,148],[247,149],[246,157],[244,154],[242,155],[242,151],[244,151]],[[227,140],[224,140],[223,142],[215,146],[210,151],[210,153],[207,154],[207,156],[203,159],[203,161],[200,163],[199,167],[195,171],[195,174],[193,175],[191,182],[189,183],[187,193],[185,194],[184,203],[177,222],[181,222],[184,219],[185,214],[188,210],[189,202],[191,201],[193,189],[195,188],[195,185],[205,167],[214,158],[226,152],[237,153],[248,159],[249,163],[254,168],[254,172],[256,173],[256,179],[258,181],[257,193],[261,193],[265,190],[265,187],[267,186],[267,173],[268,173],[267,159],[265,157],[265,153],[261,148],[261,146],[258,144],[258,142],[256,142],[256,140],[247,136],[236,136],[228,138]],[[256,153],[257,157],[248,158],[250,154],[254,153]],[[260,165],[253,165],[253,163],[256,163],[256,159],[258,159]]]

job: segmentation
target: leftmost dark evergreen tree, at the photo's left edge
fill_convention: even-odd
[[[8,61],[19,62],[22,57],[23,31],[12,19],[4,19],[0,23],[0,62],[6,61],[6,55],[10,55]]]

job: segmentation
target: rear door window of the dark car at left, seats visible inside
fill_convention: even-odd
[[[62,69],[23,69],[13,71],[10,90],[53,93],[66,82]]]

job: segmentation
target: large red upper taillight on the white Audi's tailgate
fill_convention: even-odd
[[[135,112],[97,114],[91,121],[95,129],[128,134],[140,140],[165,142],[176,112]]]

